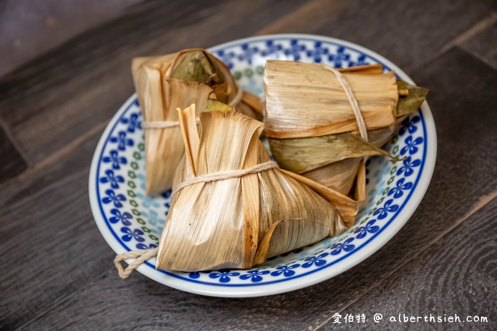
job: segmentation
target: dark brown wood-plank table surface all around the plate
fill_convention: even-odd
[[[145,1],[4,75],[0,329],[497,330],[496,10],[491,0]],[[87,181],[100,134],[133,93],[131,59],[282,32],[363,45],[430,88],[438,155],[416,212],[360,265],[282,295],[121,280]],[[366,322],[333,324],[336,312]],[[488,322],[374,324],[375,313]]]

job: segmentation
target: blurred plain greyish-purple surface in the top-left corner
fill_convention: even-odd
[[[141,1],[1,1],[0,77]]]

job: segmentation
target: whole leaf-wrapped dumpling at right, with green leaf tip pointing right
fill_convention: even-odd
[[[364,157],[392,157],[379,147],[428,93],[397,80],[394,71],[383,73],[381,65],[336,70],[280,60],[266,62],[264,91],[265,135],[279,165],[356,201],[365,198]]]

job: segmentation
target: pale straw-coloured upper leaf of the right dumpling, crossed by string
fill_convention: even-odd
[[[394,112],[381,127],[393,125],[399,98],[395,72],[368,75],[344,72],[343,76],[364,115],[378,110],[388,114]],[[264,91],[266,125],[267,131],[271,133],[309,130],[317,125],[339,124],[351,119],[355,121],[341,84],[324,66],[293,61],[267,61],[264,69]],[[344,128],[341,132],[348,131],[351,130]]]

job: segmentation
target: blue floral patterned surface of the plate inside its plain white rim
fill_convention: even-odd
[[[262,68],[267,59],[297,60],[347,67],[379,63],[348,44],[310,37],[259,37],[213,49],[248,91],[263,94]],[[390,68],[384,66],[385,71]],[[94,181],[97,211],[115,240],[127,251],[157,247],[169,208],[170,191],[147,197],[145,194],[144,135],[138,101],[133,99],[122,110],[100,150]],[[305,277],[332,266],[364,249],[366,244],[391,224],[416,188],[426,154],[426,130],[421,112],[403,122],[398,136],[384,148],[405,155],[392,163],[383,157],[367,162],[367,200],[355,225],[343,234],[269,259],[248,270],[179,272],[155,270],[155,259],[144,267],[186,282],[213,286],[260,286]],[[90,192],[93,194],[93,192]],[[93,207],[93,206],[92,206]],[[369,217],[374,219],[369,219]],[[367,222],[367,223],[366,223]]]

